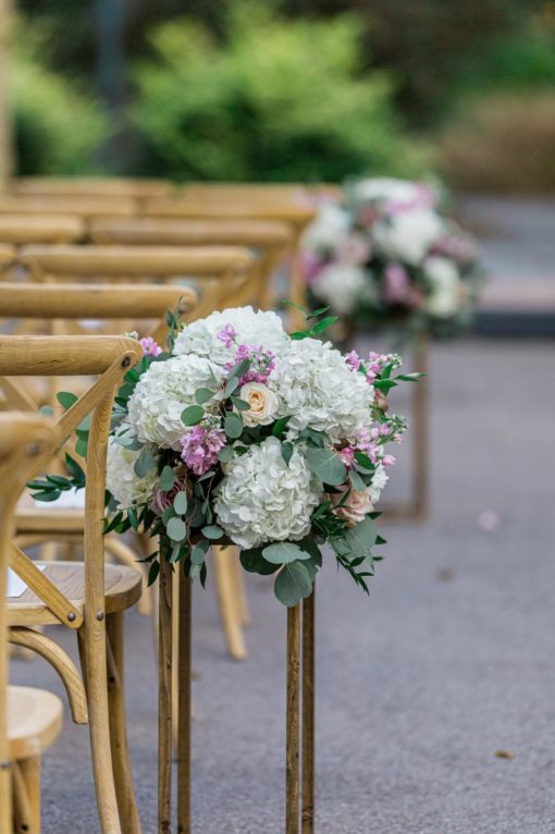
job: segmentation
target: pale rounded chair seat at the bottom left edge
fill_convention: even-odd
[[[8,741],[12,759],[28,759],[47,750],[62,728],[60,698],[30,686],[8,687]]]

